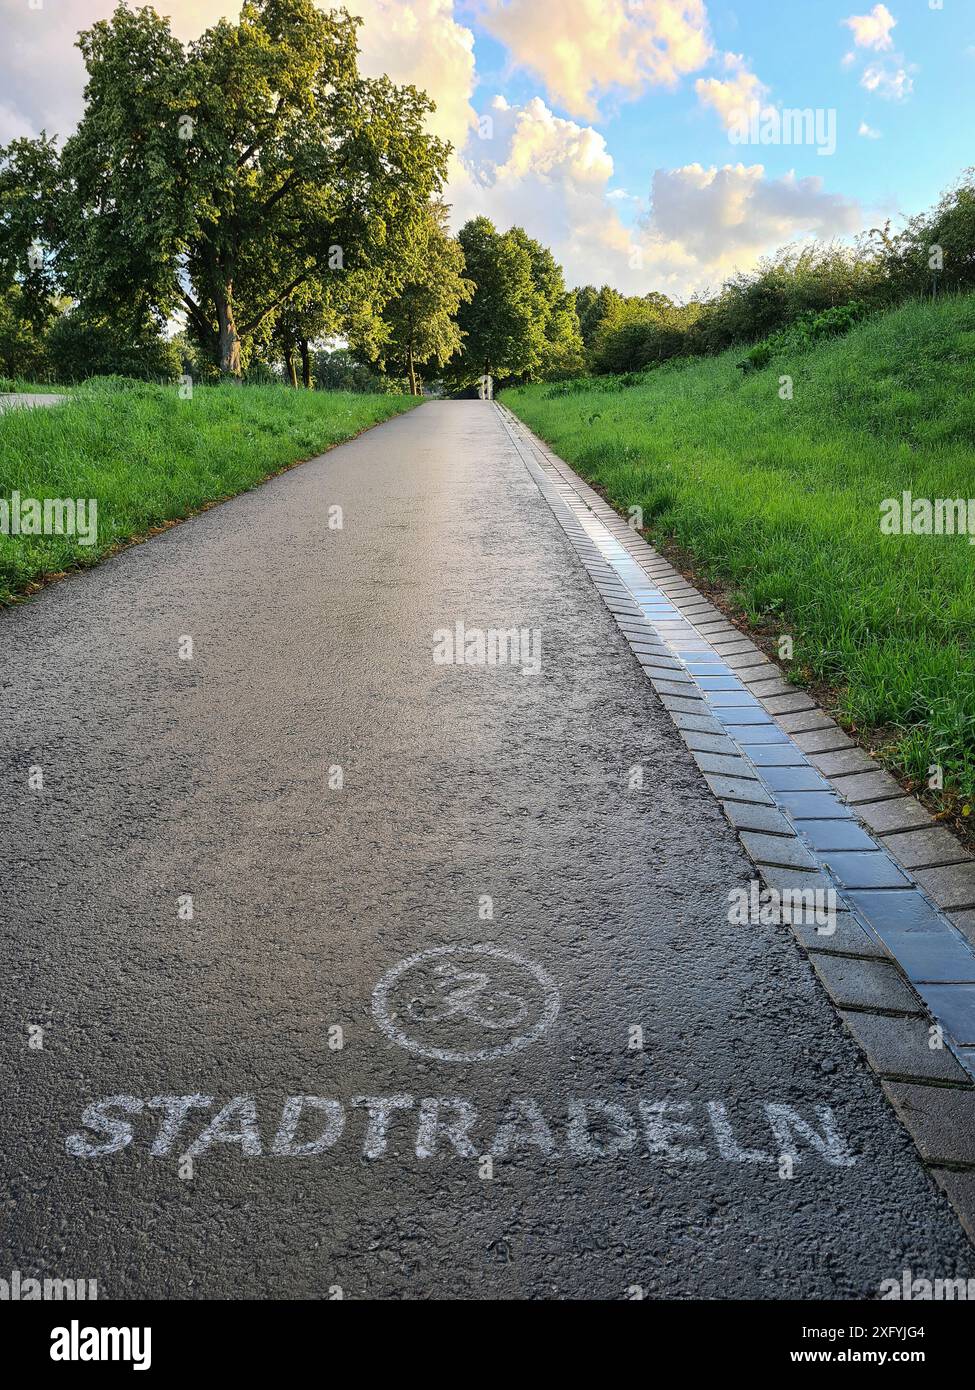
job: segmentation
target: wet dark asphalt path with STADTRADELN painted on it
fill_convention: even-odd
[[[435,663],[458,621],[538,630],[540,673]],[[0,652],[0,1275],[846,1298],[971,1273],[789,933],[729,924],[750,865],[490,404],[424,404],[54,585]]]

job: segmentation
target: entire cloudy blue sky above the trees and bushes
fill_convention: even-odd
[[[784,243],[900,225],[975,163],[975,0],[345,7],[362,70],[437,103],[455,228],[522,225],[570,285],[716,289]],[[0,0],[0,143],[71,133],[75,35],[113,8]],[[188,40],[239,3],[154,8]]]

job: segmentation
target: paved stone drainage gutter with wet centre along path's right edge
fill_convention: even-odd
[[[975,860],[505,406],[512,445],[975,1241]]]

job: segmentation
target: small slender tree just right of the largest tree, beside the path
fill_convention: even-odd
[[[446,232],[446,207],[431,204],[410,247],[403,285],[382,309],[382,364],[405,367],[413,396],[420,392],[417,364],[433,359],[444,367],[463,342],[456,314],[474,295],[463,270],[460,245]]]

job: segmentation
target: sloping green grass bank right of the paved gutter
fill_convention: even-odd
[[[975,498],[975,297],[907,304],[744,375],[743,356],[503,400],[754,627],[793,635],[791,678],[829,687],[892,766],[926,781],[939,763],[971,802],[975,546],[883,535],[879,505]]]

